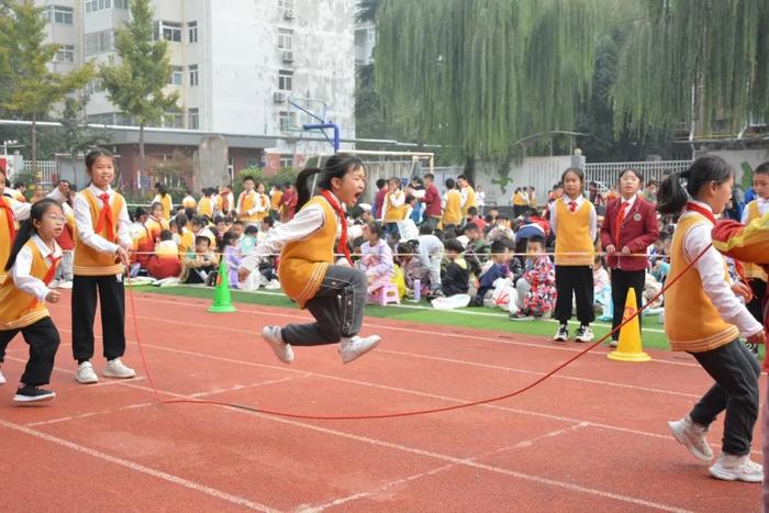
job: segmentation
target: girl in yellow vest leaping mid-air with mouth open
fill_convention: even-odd
[[[312,197],[312,177],[320,193]],[[307,168],[297,177],[296,216],[276,226],[243,259],[238,281],[245,281],[260,258],[280,253],[280,285],[286,294],[308,309],[314,323],[266,326],[261,335],[283,363],[293,361],[292,346],[339,343],[343,364],[348,364],[379,344],[379,336],[358,336],[364,317],[366,275],[360,269],[334,265],[335,242],[349,263],[347,220],[343,204],[353,207],[366,188],[366,168],[355,157],[334,155],[323,169]],[[352,237],[355,238],[355,237]]]

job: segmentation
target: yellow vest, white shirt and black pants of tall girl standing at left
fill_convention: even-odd
[[[73,266],[73,356],[78,363],[93,357],[97,293],[101,303],[103,355],[108,360],[125,353],[125,297],[119,247],[130,248],[131,220],[121,194],[93,185],[74,201],[77,237]]]

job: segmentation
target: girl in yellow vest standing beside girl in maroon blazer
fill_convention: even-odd
[[[571,319],[571,298],[577,299],[579,327],[575,341],[590,342],[593,331],[593,259],[598,216],[595,208],[582,196],[584,175],[570,167],[561,176],[564,197],[558,198],[550,212],[550,226],[556,234],[556,300],[555,319],[560,326],[553,339],[569,338],[567,323]]]

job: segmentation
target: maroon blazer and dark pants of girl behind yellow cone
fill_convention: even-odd
[[[601,225],[601,245],[613,245],[617,252],[627,247],[632,254],[644,254],[659,238],[659,224],[655,205],[634,194],[628,200],[612,201]],[[627,291],[635,290],[638,309],[643,306],[644,283],[646,282],[647,258],[636,256],[609,255],[606,265],[612,275],[612,328],[622,324]],[[638,316],[640,325],[640,316]],[[612,334],[616,341],[620,333]]]

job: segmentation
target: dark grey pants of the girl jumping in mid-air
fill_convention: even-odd
[[[281,331],[283,341],[292,346],[319,346],[357,335],[367,290],[368,278],[360,269],[328,266],[315,297],[307,302],[316,322],[288,324]]]

